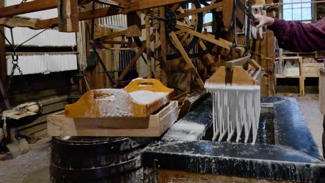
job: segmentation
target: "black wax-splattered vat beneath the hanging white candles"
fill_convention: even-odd
[[[160,170],[256,180],[325,182],[324,159],[296,99],[262,98],[261,103],[258,139],[256,144],[245,144],[211,141],[212,98],[203,101],[160,140],[144,148],[144,182],[157,182],[162,178]]]

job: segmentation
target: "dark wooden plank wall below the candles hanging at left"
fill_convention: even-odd
[[[64,110],[67,105],[68,94],[72,92],[78,95],[77,85],[71,82],[70,77],[74,76],[74,71],[66,71],[59,73],[49,73],[47,75],[35,74],[27,76],[15,76],[12,79],[12,87],[10,89],[10,105],[15,107],[19,104],[38,99],[42,105],[42,115],[32,123],[18,128],[19,134],[31,136],[35,133],[42,132],[47,129],[47,115]],[[28,85],[33,91],[30,91],[22,80],[27,78]],[[72,83],[70,85],[70,82]],[[69,88],[72,86],[72,89]]]

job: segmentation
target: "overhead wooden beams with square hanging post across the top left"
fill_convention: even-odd
[[[78,28],[76,26],[78,26],[78,24],[76,24],[76,22],[78,21],[118,14],[128,14],[130,12],[166,6],[173,3],[181,3],[185,1],[186,0],[141,0],[130,2],[127,0],[117,0],[115,1],[117,4],[110,4],[109,8],[100,8],[97,10],[78,12],[78,10],[76,10],[76,5],[90,3],[91,0],[35,0],[0,8],[0,24],[8,27],[29,27],[33,29],[43,29],[59,25],[59,27],[62,27],[60,28],[60,31],[77,32]],[[58,8],[58,18],[41,20],[12,17],[28,12],[38,12],[41,10],[49,10],[53,8]]]

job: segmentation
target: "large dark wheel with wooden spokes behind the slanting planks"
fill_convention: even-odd
[[[201,3],[202,4],[201,4]],[[196,35],[188,33],[186,30],[194,30],[195,32],[202,34],[203,28],[206,25],[213,26],[213,39],[219,39],[220,37],[220,20],[217,17],[215,8],[211,8],[213,19],[210,22],[204,23],[204,17],[207,15],[207,11],[203,11],[202,8],[211,6],[210,1],[192,1],[192,3],[181,3],[171,7],[165,7],[165,21],[166,21],[166,40],[170,46],[169,53],[167,53],[167,60],[174,60],[181,56],[181,53],[175,43],[170,37],[170,33],[174,32],[181,42],[185,52],[190,58],[198,58],[206,53],[209,53],[214,43],[205,42],[202,48],[201,39]],[[215,3],[215,2],[214,2]],[[205,6],[206,5],[206,6]],[[214,5],[216,6],[216,5]],[[139,47],[143,45],[139,37],[134,37],[136,44]],[[201,42],[201,44],[200,44]]]

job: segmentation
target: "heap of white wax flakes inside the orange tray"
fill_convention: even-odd
[[[166,103],[168,95],[168,93],[165,92],[151,92],[147,90],[138,90],[128,94],[133,98],[134,101],[143,104],[149,104],[156,100],[163,100],[164,103]]]

